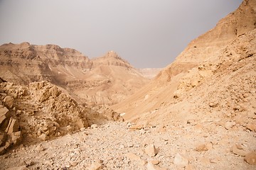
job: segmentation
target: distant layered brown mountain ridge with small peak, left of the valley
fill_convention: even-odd
[[[0,58],[6,81],[49,81],[89,105],[118,103],[149,81],[113,51],[90,60],[74,49],[23,42],[1,45]]]

